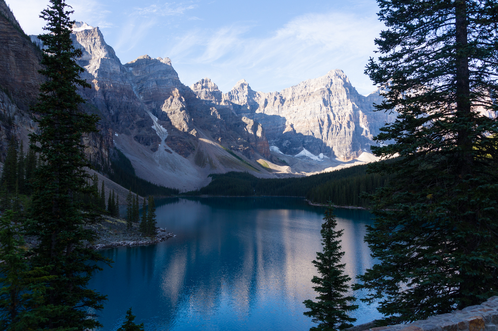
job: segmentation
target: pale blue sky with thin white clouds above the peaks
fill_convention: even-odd
[[[6,0],[27,34],[43,33],[48,0]],[[67,0],[72,18],[98,26],[122,63],[169,57],[185,85],[209,77],[228,92],[280,91],[341,69],[357,91],[384,27],[375,0]]]

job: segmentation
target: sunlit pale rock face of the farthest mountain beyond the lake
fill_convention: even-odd
[[[215,100],[209,88],[194,91],[199,98]],[[221,99],[220,104],[231,104],[238,115],[261,123],[269,142],[284,154],[306,149],[344,161],[369,152],[376,145],[373,136],[396,116],[374,112],[373,103],[381,102],[378,92],[360,95],[341,70],[273,93],[254,92],[241,80]]]

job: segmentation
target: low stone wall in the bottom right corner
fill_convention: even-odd
[[[453,313],[435,315],[409,324],[368,329],[369,331],[498,331],[498,297],[481,305]]]

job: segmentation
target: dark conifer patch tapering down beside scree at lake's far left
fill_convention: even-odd
[[[116,157],[111,160],[111,169],[112,171],[108,173],[109,179],[127,189],[131,189],[132,192],[142,197],[147,195],[170,196],[180,193],[178,189],[153,184],[136,176],[130,160],[119,149],[116,149]]]

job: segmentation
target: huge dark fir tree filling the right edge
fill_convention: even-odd
[[[400,157],[373,198],[366,241],[379,264],[359,278],[391,323],[498,294],[498,1],[377,0],[387,26],[366,73],[398,112],[372,147]],[[482,110],[480,112],[480,110]]]

